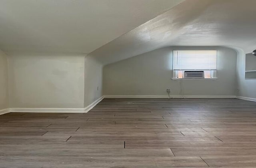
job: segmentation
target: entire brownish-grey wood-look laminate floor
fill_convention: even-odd
[[[1,168],[256,168],[256,102],[105,98],[0,116]]]

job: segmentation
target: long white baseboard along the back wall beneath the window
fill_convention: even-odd
[[[104,98],[169,98],[168,96],[152,95],[105,95]],[[180,96],[170,95],[170,98],[236,98],[236,96]]]

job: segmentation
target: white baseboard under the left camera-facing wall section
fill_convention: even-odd
[[[84,112],[84,108],[10,108],[10,112]]]

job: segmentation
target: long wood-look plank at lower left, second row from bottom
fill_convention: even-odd
[[[77,144],[17,144],[1,145],[0,156],[84,156],[84,157],[173,157],[168,148],[159,149],[124,149],[119,148],[89,148],[88,145],[78,146]],[[19,150],[17,150],[17,148]]]

